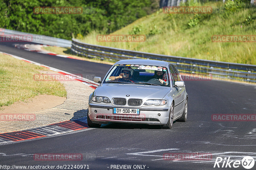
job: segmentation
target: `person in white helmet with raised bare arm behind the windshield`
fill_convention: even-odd
[[[109,79],[111,79],[111,81],[134,83],[134,81],[132,81],[132,74],[133,74],[132,67],[124,67],[122,68],[119,76],[111,76],[109,77]]]

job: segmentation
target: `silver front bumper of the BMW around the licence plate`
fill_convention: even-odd
[[[140,109],[140,115],[113,114],[113,108]],[[95,111],[96,110],[96,111]],[[96,112],[96,113],[95,113]],[[160,116],[158,115],[160,114]],[[167,124],[168,107],[120,107],[89,103],[89,118],[94,123],[122,122],[137,124]]]

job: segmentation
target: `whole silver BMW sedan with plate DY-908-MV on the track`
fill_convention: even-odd
[[[108,122],[161,125],[186,122],[188,94],[177,68],[157,60],[120,60],[89,96],[87,123],[100,127]]]

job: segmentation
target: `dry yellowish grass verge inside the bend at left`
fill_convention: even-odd
[[[44,70],[47,69],[0,53],[0,107],[39,94],[66,97],[60,82],[34,81],[33,75]]]

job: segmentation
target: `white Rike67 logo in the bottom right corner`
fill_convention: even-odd
[[[254,166],[254,159],[251,156],[245,156],[242,161],[240,160],[229,160],[230,157],[225,157],[224,159],[222,159],[221,157],[217,157],[214,163],[214,168],[218,167],[218,168],[238,168],[241,165],[245,168],[245,169],[251,169]],[[223,161],[223,162],[222,162]]]

